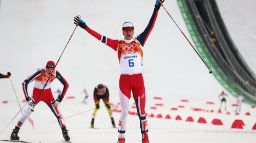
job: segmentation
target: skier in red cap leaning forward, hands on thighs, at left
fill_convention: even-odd
[[[65,138],[66,141],[70,140],[68,130],[66,129],[66,125],[64,123],[64,120],[63,120],[62,115],[58,108],[58,105],[62,101],[63,97],[65,96],[65,94],[69,88],[69,84],[66,81],[66,79],[64,77],[62,77],[61,74],[57,70],[53,70],[54,66],[55,66],[55,63],[53,61],[48,61],[45,68],[38,69],[34,74],[29,76],[22,83],[23,92],[24,92],[25,98],[28,102],[28,109],[26,110],[26,112],[24,113],[22,118],[20,118],[17,125],[13,129],[13,132],[11,134],[11,140],[19,140],[18,132],[19,132],[20,127],[23,125],[23,123],[26,121],[26,119],[31,115],[31,113],[32,113],[31,109],[33,108],[33,106],[35,104],[39,103],[40,101],[45,102],[50,107],[50,109],[52,110],[52,112],[54,113],[54,115],[56,116],[56,118],[59,122],[59,126],[62,130],[63,137]],[[42,89],[44,88],[44,85],[46,84],[51,73],[52,73],[52,75],[51,75],[44,91],[42,92],[42,94],[39,97],[39,94],[41,93]],[[58,96],[58,98],[56,100],[54,99],[54,97],[52,95],[52,91],[51,91],[51,84],[55,78],[57,78],[63,84],[62,93]],[[30,82],[32,82],[33,80],[35,80],[33,96],[30,97],[28,94],[28,84]],[[39,97],[39,99],[38,99],[38,97]],[[38,101],[35,103],[35,101],[37,99],[38,99]]]

